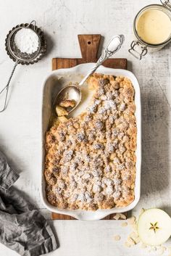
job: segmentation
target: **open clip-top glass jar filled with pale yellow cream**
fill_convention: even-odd
[[[141,9],[135,17],[133,30],[135,40],[129,49],[141,59],[147,51],[162,49],[171,41],[171,12],[160,4],[151,4]]]

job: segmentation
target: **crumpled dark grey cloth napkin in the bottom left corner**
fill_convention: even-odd
[[[23,256],[57,249],[51,227],[22,192],[12,187],[19,175],[0,152],[0,242]]]

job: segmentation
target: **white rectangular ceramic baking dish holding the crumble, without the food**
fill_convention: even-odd
[[[46,191],[45,191],[45,180],[43,176],[44,170],[44,156],[45,156],[45,149],[44,149],[44,138],[45,133],[48,130],[49,126],[49,117],[51,115],[51,102],[53,101],[54,95],[57,94],[57,91],[66,85],[69,81],[80,81],[80,75],[86,75],[87,71],[91,69],[94,63],[86,63],[81,64],[76,67],[54,70],[52,71],[43,83],[43,98],[42,98],[42,170],[41,170],[41,198],[43,200],[43,204],[47,209],[51,212],[62,213],[65,215],[70,215],[75,217],[79,220],[99,220],[101,218],[106,217],[109,214],[115,212],[127,212],[128,210],[133,209],[135,205],[137,205],[138,200],[140,198],[140,186],[141,186],[141,96],[140,96],[140,88],[138,85],[138,80],[135,78],[135,75],[128,70],[120,70],[120,69],[112,69],[104,66],[100,66],[96,73],[102,73],[107,75],[124,75],[125,77],[129,78],[133,86],[135,88],[135,117],[137,122],[137,149],[136,149],[136,178],[135,178],[135,199],[134,201],[128,205],[127,207],[120,207],[120,208],[112,208],[110,210],[96,210],[96,211],[86,211],[86,210],[65,210],[59,209],[49,204],[46,199]],[[87,104],[87,103],[86,103]],[[85,106],[84,106],[85,107]],[[83,106],[78,108],[75,115],[77,115],[80,111],[83,111]]]

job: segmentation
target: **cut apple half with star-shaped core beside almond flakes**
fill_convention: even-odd
[[[138,219],[137,230],[144,244],[164,244],[171,236],[171,218],[160,209],[146,210]]]

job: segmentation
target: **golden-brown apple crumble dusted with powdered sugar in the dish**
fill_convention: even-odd
[[[128,78],[93,74],[86,111],[58,117],[46,133],[46,197],[63,209],[125,207],[135,187],[134,88]]]

